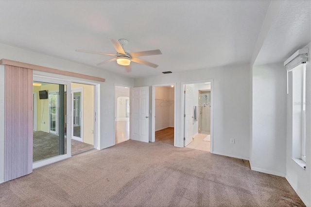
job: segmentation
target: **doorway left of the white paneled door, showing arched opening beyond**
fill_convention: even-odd
[[[130,138],[130,88],[115,86],[115,144]]]

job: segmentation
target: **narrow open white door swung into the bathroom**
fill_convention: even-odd
[[[193,124],[193,108],[192,108],[192,87],[189,85],[185,86],[185,106],[184,106],[184,136],[185,136],[185,147],[192,141],[192,124]]]

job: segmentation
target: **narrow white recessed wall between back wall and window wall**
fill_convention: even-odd
[[[286,70],[282,63],[253,67],[252,170],[285,175]],[[237,91],[238,92],[238,91]]]

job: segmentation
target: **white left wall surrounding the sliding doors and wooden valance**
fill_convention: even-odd
[[[98,148],[104,149],[114,145],[114,85],[115,83],[123,84],[126,86],[133,86],[134,80],[132,78],[124,77],[115,73],[107,72],[104,69],[96,69],[87,67],[85,65],[70,62],[67,60],[58,59],[48,55],[27,51],[12,46],[0,44],[0,59],[9,59],[23,63],[29,63],[54,69],[67,70],[71,72],[92,75],[96,77],[105,78],[106,82],[100,83],[100,146]],[[47,74],[39,71],[34,71],[36,74]],[[66,77],[56,74],[50,74],[51,77],[63,77],[69,80],[87,81],[78,78]],[[2,80],[3,76],[0,77]],[[92,81],[93,82],[93,81]],[[0,101],[4,96],[4,87],[0,85]],[[99,83],[99,82],[94,82]],[[0,102],[0,106],[1,106]],[[3,110],[3,107],[0,107]],[[1,119],[0,114],[0,119]],[[0,121],[0,130],[4,127],[4,121]],[[4,136],[0,136],[0,143],[3,142]],[[0,144],[1,145],[1,144]],[[1,145],[3,146],[3,145]],[[4,151],[0,150],[0,162],[4,158]],[[4,178],[2,171],[2,163],[0,163],[0,181]]]

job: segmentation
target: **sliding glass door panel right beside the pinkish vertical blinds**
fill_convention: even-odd
[[[36,94],[34,119],[37,129],[33,137],[34,165],[40,162],[49,164],[62,159],[61,157],[68,157],[70,139],[68,142],[67,129],[70,129],[70,121],[68,123],[66,120],[66,112],[70,111],[70,95],[67,102],[67,89],[70,90],[69,82],[34,77],[33,92]]]

